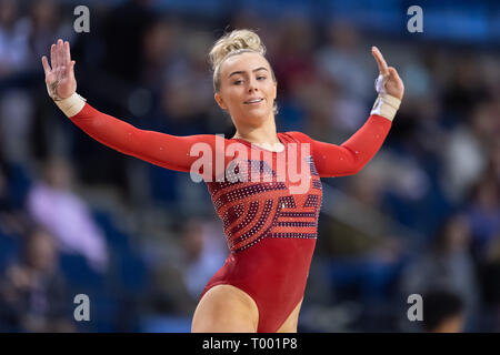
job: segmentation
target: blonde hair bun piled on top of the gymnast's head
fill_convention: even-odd
[[[234,30],[226,33],[213,44],[209,54],[212,69],[216,70],[226,55],[240,50],[254,51],[261,55],[266,54],[266,47],[256,32],[251,30]]]

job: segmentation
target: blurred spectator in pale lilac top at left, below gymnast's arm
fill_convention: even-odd
[[[108,264],[106,237],[87,203],[72,192],[72,183],[69,162],[52,158],[44,168],[43,181],[29,193],[29,212],[56,236],[61,251],[82,254],[92,268],[102,272]]]

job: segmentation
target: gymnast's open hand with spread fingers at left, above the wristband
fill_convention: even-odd
[[[77,91],[74,79],[74,61],[71,60],[69,42],[58,40],[50,48],[50,64],[47,57],[42,57],[46,84],[49,97],[54,101],[71,97]],[[52,68],[51,68],[52,67]]]

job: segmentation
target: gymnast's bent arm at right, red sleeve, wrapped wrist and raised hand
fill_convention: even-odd
[[[314,141],[302,135],[311,144],[316,168],[321,178],[352,175],[359,172],[379,151],[399,109],[404,85],[398,71],[388,67],[377,47],[372,54],[379,67],[376,90],[379,93],[368,121],[341,145]]]

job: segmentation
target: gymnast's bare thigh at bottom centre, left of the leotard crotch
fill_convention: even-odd
[[[211,287],[194,311],[193,333],[256,333],[259,310],[242,290],[232,285]]]

